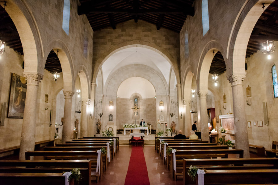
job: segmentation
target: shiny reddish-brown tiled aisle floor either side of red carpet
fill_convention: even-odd
[[[132,147],[120,146],[119,153],[112,160],[108,169],[103,173],[98,185],[124,185],[125,176],[128,170],[129,159]],[[150,185],[178,185],[182,184],[182,179],[173,181],[170,178],[169,170],[163,164],[154,150],[154,146],[144,147],[145,161],[147,164]]]

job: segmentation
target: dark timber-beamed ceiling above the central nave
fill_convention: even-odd
[[[134,19],[180,32],[186,17],[194,15],[194,0],[80,0],[78,15],[86,14],[94,31]]]

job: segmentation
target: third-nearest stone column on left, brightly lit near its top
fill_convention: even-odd
[[[89,124],[88,124],[88,116],[89,116],[89,106],[90,99],[82,99],[82,110],[81,110],[81,123],[80,123],[80,137],[88,136]]]

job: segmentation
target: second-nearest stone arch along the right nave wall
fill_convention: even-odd
[[[213,51],[217,53],[218,51],[221,52],[227,70],[229,70],[229,67],[227,66],[227,58],[224,57],[226,52],[224,50],[224,47],[220,44],[220,42],[216,40],[212,40],[206,44],[204,47],[202,54],[200,56],[199,62],[198,62],[198,68],[197,68],[197,89],[199,91],[207,91],[208,90],[208,74],[209,74],[209,68],[211,65],[211,62],[213,60]]]

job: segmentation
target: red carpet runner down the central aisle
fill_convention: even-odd
[[[143,148],[132,147],[124,185],[150,185]]]

